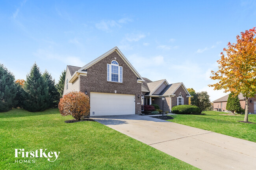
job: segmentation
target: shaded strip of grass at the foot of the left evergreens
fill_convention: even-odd
[[[59,114],[59,109],[46,109],[45,111],[42,111],[42,112],[29,112],[25,109],[12,109],[8,112],[1,112],[0,119],[39,116],[39,115],[46,115],[46,114]]]

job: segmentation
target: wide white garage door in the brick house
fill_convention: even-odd
[[[91,92],[90,106],[91,116],[135,114],[135,95]]]

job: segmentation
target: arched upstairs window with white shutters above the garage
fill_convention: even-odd
[[[107,80],[122,83],[122,66],[113,60],[111,64],[107,64]]]

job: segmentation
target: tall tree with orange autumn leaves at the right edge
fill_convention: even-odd
[[[219,70],[211,71],[213,80],[218,83],[209,85],[214,90],[224,89],[224,92],[232,92],[234,96],[242,93],[245,97],[245,118],[248,122],[248,100],[256,94],[256,29],[241,32],[236,36],[237,43],[228,43],[228,48],[221,52]]]

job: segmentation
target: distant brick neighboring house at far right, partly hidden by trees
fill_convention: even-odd
[[[218,110],[220,109],[221,111],[225,112],[226,110],[226,105],[227,105],[227,101],[228,101],[228,96],[229,94],[227,94],[226,96],[223,96],[222,98],[219,98],[217,100],[213,101],[213,109],[214,110]],[[245,109],[245,98],[243,97],[243,94],[239,94],[238,95],[241,107],[243,109]],[[248,100],[248,112],[249,113],[256,113],[256,98],[249,98]]]

